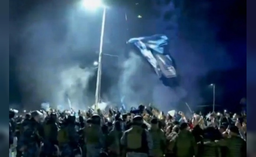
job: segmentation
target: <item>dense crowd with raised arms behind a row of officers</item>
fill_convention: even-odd
[[[11,157],[245,157],[246,113],[9,110]]]

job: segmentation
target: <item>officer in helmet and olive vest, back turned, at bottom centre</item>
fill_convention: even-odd
[[[148,157],[153,156],[153,142],[147,130],[142,128],[143,117],[136,115],[132,119],[132,126],[126,130],[121,138],[124,148],[123,156]]]

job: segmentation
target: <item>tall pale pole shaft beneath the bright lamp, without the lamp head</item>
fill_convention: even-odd
[[[100,51],[98,58],[98,72],[97,72],[97,82],[96,82],[96,92],[95,92],[95,112],[98,109],[99,95],[100,95],[100,81],[101,81],[101,69],[102,69],[102,46],[103,46],[103,37],[104,37],[104,28],[105,28],[105,18],[106,18],[106,7],[104,7],[102,15],[102,25],[100,33]]]

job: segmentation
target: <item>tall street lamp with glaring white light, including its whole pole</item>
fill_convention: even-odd
[[[98,108],[99,95],[100,95],[100,81],[101,81],[101,69],[102,69],[102,46],[106,19],[106,7],[102,4],[101,0],[83,0],[83,7],[88,10],[95,10],[99,7],[103,7],[102,24],[100,32],[100,51],[98,57],[98,71],[97,71],[97,82],[96,82],[96,92],[95,92],[95,111]]]

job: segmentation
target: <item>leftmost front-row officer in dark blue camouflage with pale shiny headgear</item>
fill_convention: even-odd
[[[35,157],[39,154],[39,144],[41,137],[39,135],[40,120],[43,114],[39,111],[31,112],[31,119],[23,126],[23,133],[20,136],[20,151],[23,152],[23,157]]]

